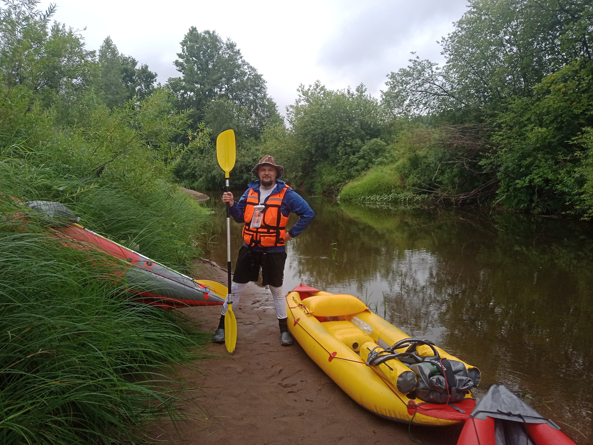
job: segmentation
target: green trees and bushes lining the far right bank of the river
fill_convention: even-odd
[[[293,187],[343,200],[589,217],[591,2],[472,0],[440,44],[443,65],[413,56],[380,100],[364,85],[302,85],[286,123],[267,118],[251,139],[254,158],[273,154]]]

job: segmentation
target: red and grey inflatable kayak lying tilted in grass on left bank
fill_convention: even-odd
[[[31,209],[42,211],[49,218],[77,221],[72,211],[59,202],[29,201]],[[138,295],[141,303],[174,309],[187,306],[216,306],[224,303],[227,287],[214,281],[195,280],[163,266],[74,222],[54,228],[62,244],[78,250],[97,249],[109,253],[128,265],[125,275],[127,290]],[[117,275],[117,273],[116,273]]]

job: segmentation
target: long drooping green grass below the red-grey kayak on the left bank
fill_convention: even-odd
[[[168,363],[203,344],[173,311],[127,301],[113,260],[63,247],[40,222],[0,225],[0,443],[141,440],[174,416]],[[157,375],[155,375],[157,373]]]

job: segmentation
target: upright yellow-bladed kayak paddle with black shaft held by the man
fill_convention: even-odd
[[[237,157],[237,150],[235,148],[235,132],[232,130],[223,131],[216,138],[216,157],[218,158],[218,165],[224,170],[224,176],[227,182],[227,192],[229,189],[229,173],[232,167],[235,166],[235,158]],[[227,271],[228,271],[228,293],[227,293],[227,314],[224,317],[224,342],[228,352],[235,350],[237,345],[237,319],[232,313],[232,298],[231,298],[231,213],[230,206],[227,202]]]

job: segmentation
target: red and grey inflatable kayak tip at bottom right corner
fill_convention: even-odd
[[[575,445],[553,421],[495,384],[471,412],[457,445],[500,444]]]

